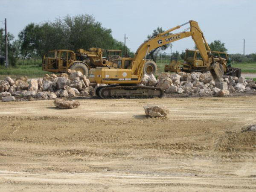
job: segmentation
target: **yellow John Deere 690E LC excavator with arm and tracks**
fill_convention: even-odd
[[[183,32],[176,34],[169,34],[169,32],[179,29],[181,26],[188,23],[190,24],[190,27],[188,28],[190,31],[184,30]],[[214,56],[211,54],[211,50],[198,23],[194,20],[190,20],[187,23],[178,25],[145,41],[137,49],[134,58],[119,58],[118,60],[114,60],[113,65],[117,64],[117,68],[115,68],[116,66],[107,66],[90,69],[90,82],[110,84],[108,86],[97,87],[96,95],[102,99],[113,97],[162,97],[163,90],[160,88],[138,85],[143,78],[144,66],[154,64],[153,61],[146,59],[146,56],[152,49],[190,36],[194,40],[196,47],[198,47],[198,51],[207,66],[206,69],[212,73],[215,82],[221,82],[224,68],[227,66],[214,60]],[[207,51],[209,51],[209,54]],[[125,67],[121,68],[118,66]]]

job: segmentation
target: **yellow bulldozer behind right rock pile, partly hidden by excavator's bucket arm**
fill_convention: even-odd
[[[226,52],[220,51],[208,51],[208,57],[210,54],[213,55],[215,62],[218,62],[224,66],[224,75],[228,76],[241,76],[241,69],[229,67],[227,65],[229,59]],[[179,73],[181,71],[192,73],[192,72],[204,72],[207,70],[207,65],[199,52],[199,50],[186,49],[184,62],[171,61],[170,64],[164,66],[165,72]]]

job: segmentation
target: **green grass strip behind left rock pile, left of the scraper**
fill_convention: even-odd
[[[5,79],[6,76],[10,76],[13,79],[16,79],[20,76],[27,76],[28,78],[43,77],[44,74],[51,74],[51,72],[43,71],[42,67],[38,64],[30,65],[17,65],[16,67],[5,68],[0,66],[0,79]]]

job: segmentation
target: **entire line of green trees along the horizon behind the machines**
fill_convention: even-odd
[[[154,38],[157,34],[164,32],[161,27],[155,29],[147,40]],[[5,35],[0,29],[0,56],[5,55]],[[148,54],[148,58],[156,61],[156,58],[172,44],[167,44],[157,49],[153,49]],[[29,23],[18,34],[18,39],[8,33],[9,63],[15,65],[18,58],[41,58],[49,50],[69,49],[89,49],[100,47],[103,49],[124,49],[124,44],[117,41],[111,35],[111,29],[102,27],[92,15],[67,15],[63,18],[56,18],[53,22]],[[211,50],[227,52],[225,44],[219,40],[209,44]],[[194,47],[197,49],[196,47]],[[131,57],[133,52],[127,48],[127,53]],[[183,59],[185,52],[174,52],[173,58]],[[236,62],[256,62],[256,54],[249,55],[230,54],[232,61]],[[3,64],[4,62],[2,62]]]

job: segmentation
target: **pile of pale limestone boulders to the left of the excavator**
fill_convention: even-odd
[[[93,85],[93,84],[91,84]],[[15,80],[6,77],[0,81],[0,99],[3,102],[55,99],[57,97],[93,96],[94,88],[81,72],[45,75],[43,79],[20,77]],[[95,86],[95,85],[94,85]]]

